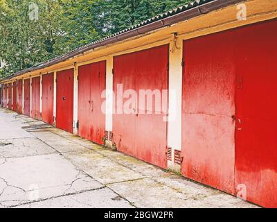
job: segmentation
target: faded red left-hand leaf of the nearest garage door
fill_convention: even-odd
[[[222,50],[224,49],[224,50]],[[234,193],[235,64],[233,35],[184,42],[181,172]]]

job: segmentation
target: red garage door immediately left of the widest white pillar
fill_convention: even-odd
[[[120,85],[123,87],[124,99],[118,90]],[[147,100],[150,106],[139,99],[140,90],[154,92],[155,89],[158,89],[160,96],[162,90],[168,89],[168,45],[114,58],[114,142],[119,151],[166,168],[167,123],[164,117],[167,110],[161,110],[161,103],[156,109],[153,108],[158,101],[157,96],[156,99],[151,96],[152,103]],[[136,104],[130,108],[129,96],[132,90],[137,96],[133,96]],[[120,114],[121,110],[123,114]]]

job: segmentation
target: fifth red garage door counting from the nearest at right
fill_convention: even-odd
[[[53,84],[54,75],[46,74],[42,76],[42,121],[53,125]]]

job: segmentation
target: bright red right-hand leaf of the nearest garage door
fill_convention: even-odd
[[[277,22],[238,30],[235,187],[277,207]]]

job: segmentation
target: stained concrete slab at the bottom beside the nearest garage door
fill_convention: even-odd
[[[107,185],[120,196],[124,196],[136,207],[154,208],[207,208],[207,207],[249,207],[249,203],[226,196],[213,189],[196,189],[188,185],[179,189],[170,187],[151,178]],[[211,201],[213,200],[213,201]]]

